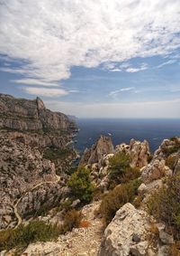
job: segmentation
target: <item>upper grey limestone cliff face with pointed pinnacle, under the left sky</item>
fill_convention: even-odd
[[[46,109],[40,98],[24,100],[0,94],[0,113],[0,128],[21,131],[72,128],[66,115]]]

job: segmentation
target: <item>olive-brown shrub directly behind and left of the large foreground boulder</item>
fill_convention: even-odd
[[[133,203],[138,194],[140,180],[136,179],[130,183],[117,185],[109,194],[103,197],[99,212],[102,214],[106,224],[112,221],[117,210],[126,203]]]

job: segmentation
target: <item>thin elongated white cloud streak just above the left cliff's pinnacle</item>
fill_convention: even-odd
[[[44,97],[58,97],[65,96],[68,94],[67,90],[63,89],[48,89],[48,88],[39,88],[39,87],[23,87],[23,90],[26,93]]]

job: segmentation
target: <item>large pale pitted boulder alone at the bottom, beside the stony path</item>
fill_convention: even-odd
[[[105,229],[98,256],[152,255],[153,249],[148,242],[149,217],[145,211],[137,210],[128,203],[117,211]],[[139,240],[133,240],[138,234]],[[151,254],[150,254],[151,253]]]

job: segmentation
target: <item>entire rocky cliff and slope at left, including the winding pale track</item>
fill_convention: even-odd
[[[39,98],[1,94],[0,110],[0,229],[5,229],[59,203],[76,158],[68,147],[76,125]]]

